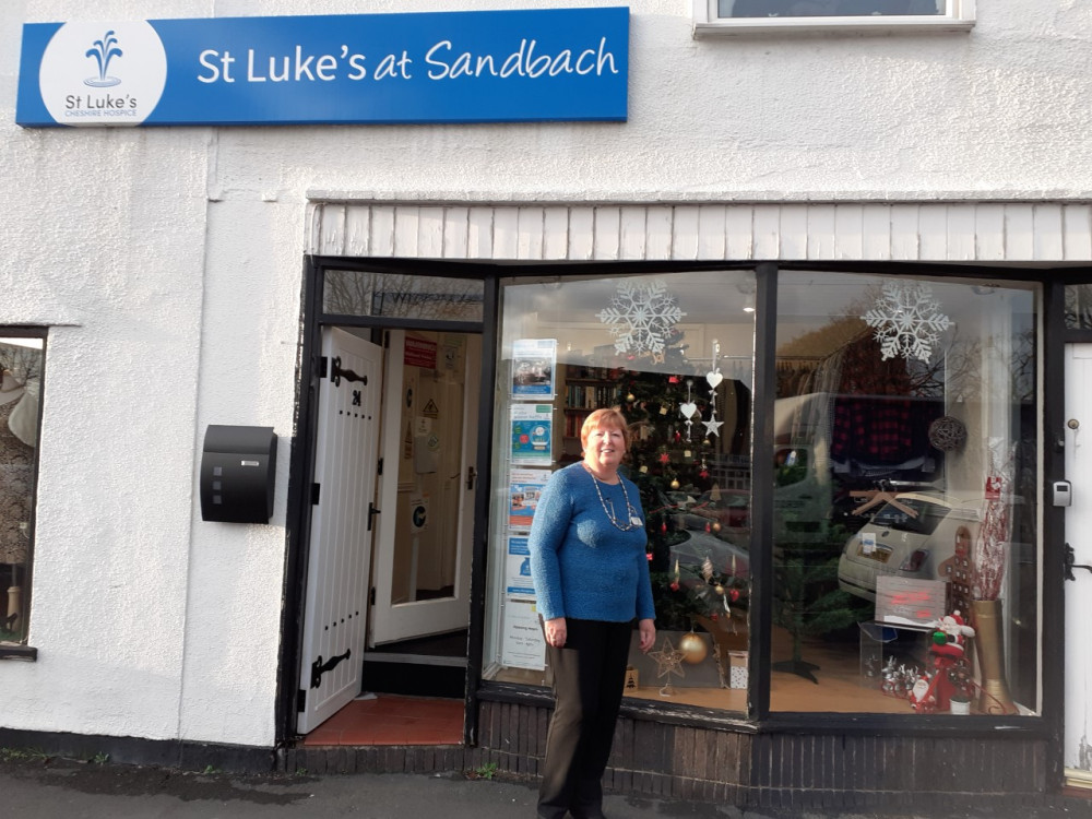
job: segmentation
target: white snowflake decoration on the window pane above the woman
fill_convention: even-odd
[[[600,310],[598,320],[615,336],[619,354],[663,356],[672,328],[686,316],[662,280],[620,282],[609,307]]]

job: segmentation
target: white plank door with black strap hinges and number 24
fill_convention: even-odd
[[[322,334],[300,688],[306,734],[360,692],[382,391],[382,347],[337,329]]]

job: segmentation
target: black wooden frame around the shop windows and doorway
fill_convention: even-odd
[[[753,390],[753,429],[752,441],[756,450],[772,452],[773,435],[773,401],[775,397],[775,333],[776,333],[776,295],[778,274],[781,271],[807,270],[814,272],[870,273],[885,276],[959,276],[961,278],[981,280],[984,285],[1007,280],[1033,282],[1042,286],[1041,344],[1043,347],[1043,383],[1045,394],[1042,406],[1042,438],[1045,451],[1042,460],[1041,479],[1047,482],[1057,479],[1064,473],[1064,452],[1060,438],[1056,435],[1060,429],[1064,414],[1063,363],[1064,344],[1066,341],[1078,340],[1072,331],[1064,329],[1065,288],[1067,281],[1092,282],[1092,268],[1038,268],[1038,266],[986,266],[978,264],[950,264],[928,262],[803,262],[803,261],[689,261],[689,262],[498,262],[492,260],[474,261],[435,261],[406,259],[364,259],[349,257],[308,257],[305,261],[305,305],[302,323],[304,358],[313,349],[313,340],[318,328],[323,323],[353,324],[360,327],[379,327],[381,324],[399,325],[401,320],[371,319],[367,317],[343,317],[321,314],[321,271],[323,268],[346,270],[352,268],[376,272],[420,272],[430,276],[451,276],[480,278],[485,283],[485,306],[483,323],[476,331],[483,333],[483,400],[479,418],[479,468],[486,486],[491,487],[491,447],[494,411],[492,380],[496,378],[496,354],[499,343],[500,287],[502,281],[518,281],[521,277],[538,276],[615,276],[628,273],[651,274],[673,273],[696,270],[753,270],[757,278],[757,314],[755,345],[755,390]],[[419,322],[418,322],[419,323]],[[465,325],[449,329],[468,329]],[[1083,331],[1080,340],[1092,341],[1092,330]],[[305,417],[301,415],[301,417]],[[1055,442],[1051,446],[1051,442]],[[484,449],[483,449],[484,448]],[[300,456],[295,448],[294,463]],[[298,474],[301,464],[294,465],[293,474]],[[752,480],[755,485],[772,486],[774,482],[774,465],[772,459],[755,459],[752,463]],[[297,486],[296,494],[299,494]],[[479,494],[482,505],[476,514],[478,523],[475,534],[475,569],[473,575],[471,639],[467,668],[467,722],[466,739],[473,743],[476,735],[476,703],[478,701],[509,702],[549,707],[553,698],[545,687],[526,686],[512,682],[483,680],[484,634],[482,625],[485,621],[485,561],[488,544],[485,542],[488,513],[486,500],[490,492]],[[289,489],[289,503],[294,495]],[[298,500],[298,499],[297,499]],[[290,507],[292,508],[292,507]],[[772,538],[773,506],[768,492],[759,492],[752,500],[751,508],[752,538],[755,543],[764,543]],[[1064,574],[1061,542],[1064,538],[1063,510],[1045,506],[1042,512],[1043,532],[1043,578],[1044,585],[1040,589],[1043,600],[1042,633],[1061,633],[1064,621],[1064,600],[1061,578]],[[289,539],[298,539],[300,524],[292,526],[296,535]],[[306,530],[302,530],[306,531]],[[295,554],[289,560],[299,559],[298,545],[289,549]],[[1060,736],[1064,729],[1064,674],[1056,664],[1043,662],[1043,709],[1035,715],[1014,716],[977,716],[971,721],[962,716],[949,714],[869,714],[869,713],[835,713],[835,712],[773,712],[770,710],[771,686],[771,646],[772,632],[772,577],[773,555],[771,548],[758,550],[752,557],[752,608],[751,608],[751,645],[750,645],[750,690],[746,714],[720,712],[690,705],[662,702],[638,702],[625,700],[621,709],[624,716],[638,720],[654,720],[667,724],[678,724],[690,727],[735,731],[739,733],[808,733],[836,731],[840,734],[875,735],[875,736],[939,736],[949,734],[959,727],[961,736],[975,738],[997,738],[1000,735],[1028,739],[1053,740]],[[1054,580],[1056,579],[1056,580]],[[286,603],[290,601],[286,600]],[[285,612],[295,609],[286,605]],[[294,627],[298,624],[293,622]],[[288,642],[288,641],[286,641]],[[1040,644],[1040,653],[1046,656],[1049,646]],[[282,664],[289,675],[294,675],[295,665]],[[284,673],[284,672],[283,672]],[[282,686],[282,689],[284,687]],[[295,690],[285,691],[282,698],[282,719],[277,721],[283,728],[290,723],[290,713],[285,716],[286,709],[294,709]],[[958,721],[958,722],[953,722]],[[283,731],[281,733],[284,733]],[[1060,764],[1060,748],[1056,756]]]

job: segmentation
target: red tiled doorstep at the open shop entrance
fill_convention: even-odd
[[[321,745],[460,745],[462,700],[379,695],[353,700],[304,739]]]

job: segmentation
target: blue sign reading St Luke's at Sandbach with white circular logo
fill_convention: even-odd
[[[625,120],[629,9],[28,23],[15,121]]]

